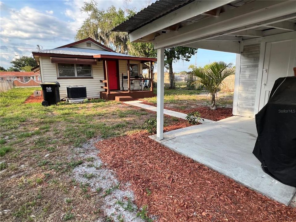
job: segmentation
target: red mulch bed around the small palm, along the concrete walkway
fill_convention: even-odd
[[[149,102],[142,102],[142,103],[146,105],[155,106],[154,103],[149,103]],[[185,114],[198,111],[202,118],[213,120],[213,121],[218,121],[218,120],[225,119],[227,117],[232,116],[232,108],[218,108],[216,110],[210,110],[209,107],[207,106],[200,106],[193,109],[176,109],[171,107],[164,107],[164,109],[169,109],[169,110],[173,110],[173,111],[176,111],[179,113],[185,113]]]

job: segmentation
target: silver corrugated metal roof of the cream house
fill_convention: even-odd
[[[65,47],[65,48],[54,48],[54,49],[45,49],[40,51],[34,51],[36,53],[51,53],[51,54],[65,54],[65,55],[115,55],[115,56],[129,56],[136,57],[133,55],[121,54],[117,52],[110,52],[105,50],[96,50],[96,49],[84,49],[84,48],[75,48],[75,47]]]

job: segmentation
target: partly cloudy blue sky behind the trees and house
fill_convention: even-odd
[[[0,65],[10,67],[10,61],[20,55],[30,56],[36,45],[43,49],[55,48],[74,42],[76,30],[87,14],[80,12],[84,1],[1,1],[0,6]],[[101,9],[134,8],[139,11],[154,0],[96,1]],[[204,66],[223,60],[235,63],[235,54],[199,49],[189,62],[173,64],[174,72],[188,71],[190,64]]]

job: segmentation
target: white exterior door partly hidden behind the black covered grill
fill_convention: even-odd
[[[267,103],[275,80],[280,77],[294,76],[295,64],[296,39],[266,43],[259,110]]]

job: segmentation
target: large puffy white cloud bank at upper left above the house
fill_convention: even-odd
[[[2,17],[0,22],[2,38],[53,41],[72,40],[75,35],[67,22],[27,6],[20,10],[11,10],[10,16]]]

